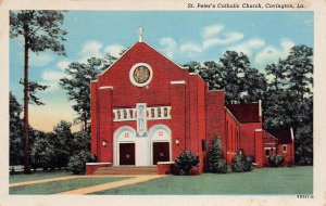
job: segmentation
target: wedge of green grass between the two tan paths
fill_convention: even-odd
[[[40,178],[39,178],[40,179]],[[74,178],[47,183],[11,186],[9,194],[55,194],[64,191],[120,181],[128,178]]]

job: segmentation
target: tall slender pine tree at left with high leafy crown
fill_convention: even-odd
[[[24,39],[24,140],[25,140],[25,167],[24,172],[30,173],[30,151],[28,136],[28,103],[29,91],[36,91],[41,86],[30,83],[28,80],[28,60],[29,52],[37,54],[46,50],[51,50],[59,55],[65,55],[63,38],[66,35],[64,29],[60,28],[63,24],[63,14],[61,11],[49,10],[22,10],[10,12],[10,37]],[[34,85],[34,89],[32,89]],[[33,92],[32,92],[33,93]],[[33,100],[33,98],[32,98]],[[36,99],[36,104],[39,103]]]

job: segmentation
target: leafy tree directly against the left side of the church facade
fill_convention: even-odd
[[[77,113],[75,123],[83,123],[83,130],[89,131],[90,119],[90,81],[97,78],[116,59],[106,55],[104,59],[90,57],[87,63],[73,62],[65,68],[64,78],[60,85],[66,90],[70,101],[75,101],[73,110]]]

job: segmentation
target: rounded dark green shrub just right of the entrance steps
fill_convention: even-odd
[[[184,151],[175,160],[175,167],[179,175],[189,175],[191,168],[200,163],[199,156],[190,151]]]

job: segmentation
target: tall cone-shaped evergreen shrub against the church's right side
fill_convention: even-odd
[[[209,171],[214,173],[226,173],[227,164],[223,157],[220,136],[216,134],[209,153]]]

